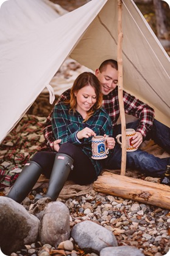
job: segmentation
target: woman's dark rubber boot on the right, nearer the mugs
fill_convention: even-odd
[[[48,191],[43,196],[37,194],[34,201],[36,202],[42,197],[49,197],[52,201],[55,201],[68,179],[71,170],[73,170],[73,158],[67,154],[57,154],[49,179]]]

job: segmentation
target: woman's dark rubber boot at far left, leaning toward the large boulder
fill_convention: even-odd
[[[24,166],[21,174],[16,179],[7,197],[21,203],[27,194],[29,194],[32,187],[37,183],[41,175],[42,168],[34,161],[29,161]]]

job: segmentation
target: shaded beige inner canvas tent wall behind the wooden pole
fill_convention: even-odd
[[[124,89],[154,107],[156,118],[170,126],[170,59],[133,1],[123,1],[122,33]],[[117,1],[111,0],[90,24],[71,57],[95,69],[105,59],[117,59],[117,43],[118,7]]]

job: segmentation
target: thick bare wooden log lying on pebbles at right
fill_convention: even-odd
[[[93,183],[94,190],[170,209],[170,187],[105,171]]]

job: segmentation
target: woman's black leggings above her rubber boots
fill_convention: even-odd
[[[63,143],[58,151],[60,154],[67,154],[74,160],[73,170],[69,173],[69,179],[80,185],[90,184],[96,180],[96,170],[89,157],[81,148],[71,143]],[[57,152],[40,151],[31,160],[37,162],[43,168],[43,175],[50,178],[52,167]]]

